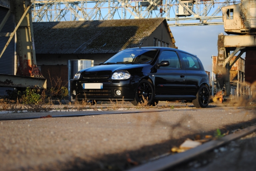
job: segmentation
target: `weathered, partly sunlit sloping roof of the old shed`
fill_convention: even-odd
[[[138,47],[161,22],[162,18],[34,22],[36,54],[117,53]]]

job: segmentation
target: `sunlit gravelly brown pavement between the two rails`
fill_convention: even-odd
[[[242,107],[0,121],[0,170],[125,170],[170,153],[186,138],[255,123],[255,110]]]

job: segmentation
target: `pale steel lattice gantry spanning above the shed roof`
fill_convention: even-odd
[[[32,3],[33,22],[165,17],[169,26],[198,26],[223,24],[221,8],[240,1],[32,0]]]

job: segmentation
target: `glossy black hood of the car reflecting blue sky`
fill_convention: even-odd
[[[131,68],[138,68],[149,64],[112,64],[112,65],[100,65],[91,68],[81,70],[82,77],[84,78],[105,78],[112,76],[113,72],[117,70],[129,70]]]

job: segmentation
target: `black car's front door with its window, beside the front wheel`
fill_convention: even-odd
[[[158,64],[162,61],[168,61],[170,65],[160,66],[156,70],[156,97],[182,95],[186,87],[186,72],[181,68],[178,54],[175,51],[164,50],[158,58]]]

